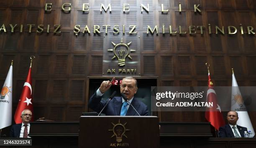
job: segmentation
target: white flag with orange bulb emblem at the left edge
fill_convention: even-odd
[[[0,94],[0,129],[12,124],[13,66],[10,66]]]

